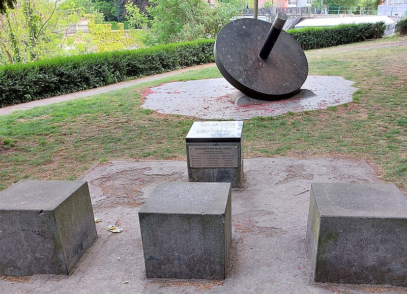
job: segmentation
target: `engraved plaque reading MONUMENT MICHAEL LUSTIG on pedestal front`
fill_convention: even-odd
[[[238,148],[231,146],[189,146],[191,168],[237,168]]]

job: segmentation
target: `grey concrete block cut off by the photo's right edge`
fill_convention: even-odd
[[[407,282],[407,200],[394,184],[312,183],[307,246],[317,282]]]

